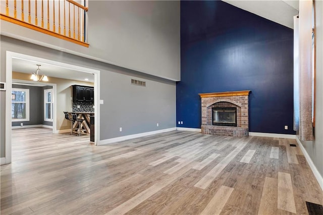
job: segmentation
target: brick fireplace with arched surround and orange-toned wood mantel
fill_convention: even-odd
[[[199,93],[201,96],[202,124],[201,130],[203,134],[214,134],[233,137],[249,136],[249,120],[248,120],[248,96],[250,90],[231,91],[231,92],[213,92]],[[217,111],[214,111],[217,110]],[[219,111],[223,110],[223,111]],[[218,112],[226,112],[226,110],[236,110],[236,122],[228,126],[228,122],[215,122],[215,114]],[[215,113],[216,112],[216,113]],[[228,111],[229,112],[229,111]],[[232,112],[232,111],[230,111]],[[215,114],[214,114],[215,113]],[[233,113],[232,113],[233,114]],[[223,116],[226,116],[224,114]],[[230,121],[229,121],[230,122]],[[231,122],[230,122],[231,123]],[[217,125],[214,125],[217,124]]]

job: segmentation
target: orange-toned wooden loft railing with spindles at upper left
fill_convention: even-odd
[[[1,19],[88,47],[86,5],[87,0],[1,0]]]

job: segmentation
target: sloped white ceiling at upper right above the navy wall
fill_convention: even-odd
[[[277,22],[289,28],[294,28],[293,17],[298,14],[299,1],[245,1],[223,0],[230,5],[241,8],[265,19]]]

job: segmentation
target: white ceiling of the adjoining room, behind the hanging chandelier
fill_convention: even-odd
[[[80,72],[77,70],[71,70],[64,67],[44,64],[42,62],[26,61],[26,60],[15,59],[15,58],[12,60],[12,71],[32,74],[36,72],[38,68],[36,66],[37,64],[41,65],[39,69],[42,74],[48,76],[48,79],[50,79],[50,77],[54,77],[54,78],[64,78],[64,79],[77,80],[77,81],[86,81],[85,79],[87,78],[88,79],[87,82],[94,82],[94,75],[91,73]]]

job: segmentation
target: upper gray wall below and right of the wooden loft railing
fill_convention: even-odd
[[[1,20],[2,34],[105,63],[180,80],[179,1],[88,1],[83,47]]]

